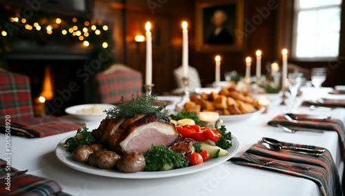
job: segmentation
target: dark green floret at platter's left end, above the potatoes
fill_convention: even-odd
[[[66,151],[72,153],[75,148],[80,145],[90,145],[96,142],[95,137],[92,133],[88,131],[88,128],[84,127],[83,129],[78,128],[77,134],[75,137],[70,137],[66,139],[65,146]]]

